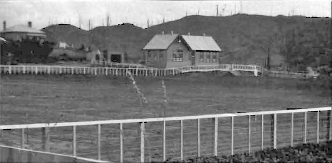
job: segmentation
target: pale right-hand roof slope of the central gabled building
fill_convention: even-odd
[[[221,51],[220,47],[211,36],[182,35],[182,38],[193,51]]]

